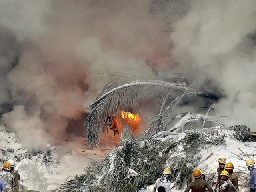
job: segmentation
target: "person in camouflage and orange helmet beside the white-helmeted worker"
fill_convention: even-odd
[[[14,176],[10,173],[10,170],[10,163],[5,162],[3,165],[3,170],[0,172],[0,178],[4,180],[6,192],[12,192],[14,188]]]

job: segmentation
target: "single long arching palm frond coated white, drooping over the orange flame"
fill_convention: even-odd
[[[154,98],[157,95],[156,100],[164,98],[166,101],[172,90],[195,92],[186,86],[158,80],[137,80],[121,85],[111,84],[105,87],[102,95],[88,107],[90,114],[84,126],[87,130],[90,147],[92,148],[99,142],[100,134],[104,132],[109,117],[119,114],[120,110],[130,106],[135,106],[138,109],[140,102],[145,98]]]

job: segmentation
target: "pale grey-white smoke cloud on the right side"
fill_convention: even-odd
[[[226,96],[216,116],[232,126],[256,127],[256,2],[193,0],[190,10],[173,25],[172,55],[185,76],[214,82]]]

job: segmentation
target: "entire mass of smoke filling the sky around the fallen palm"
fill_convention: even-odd
[[[102,73],[150,76],[153,69],[171,68],[190,82],[211,82],[225,95],[214,106],[216,116],[253,130],[256,2],[154,2],[0,0],[0,112],[6,128],[36,150],[48,142],[82,140],[84,109],[98,95],[92,91],[116,78]],[[170,32],[160,34],[168,22]],[[168,50],[164,44],[171,43]]]

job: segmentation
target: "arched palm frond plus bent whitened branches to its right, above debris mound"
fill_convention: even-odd
[[[134,78],[134,77],[132,77]],[[120,78],[122,79],[122,78]],[[118,79],[118,80],[120,80]],[[211,122],[216,125],[213,116],[193,113],[176,114],[172,118],[172,112],[179,102],[191,96],[199,96],[216,102],[221,96],[208,92],[204,88],[200,90],[187,85],[186,78],[182,76],[169,76],[165,80],[137,79],[131,82],[127,80],[109,82],[96,101],[87,109],[90,112],[84,126],[88,134],[89,146],[93,148],[100,142],[101,133],[105,133],[108,126],[116,125],[114,116],[121,110],[134,106],[135,111],[141,106],[142,100],[153,98],[153,102],[160,103],[159,114],[152,117],[152,122],[144,132],[144,136],[152,136],[161,131],[182,132],[188,122]],[[181,118],[176,124],[173,120]],[[115,134],[118,130],[114,128]]]

